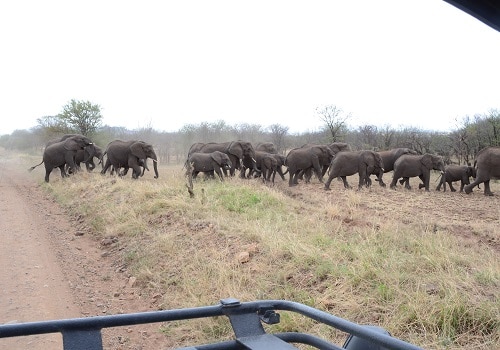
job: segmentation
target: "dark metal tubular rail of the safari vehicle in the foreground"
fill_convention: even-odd
[[[280,314],[276,310],[299,313],[319,323],[346,332],[349,336],[343,347],[339,347],[327,340],[306,333],[267,333],[263,323],[277,324],[280,322]],[[297,349],[293,343],[307,344],[325,350],[420,349],[413,344],[390,336],[382,328],[358,325],[304,304],[286,300],[240,302],[233,298],[223,299],[214,306],[5,324],[0,326],[0,338],[61,333],[65,350],[102,350],[101,330],[103,328],[218,316],[226,316],[229,319],[235,335],[234,340],[179,349]]]

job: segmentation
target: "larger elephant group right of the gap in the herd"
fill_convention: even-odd
[[[208,154],[208,155],[207,155]],[[224,154],[226,156],[224,156]],[[186,165],[193,178],[203,172],[214,177],[216,173],[221,181],[224,176],[234,176],[240,170],[240,177],[262,176],[264,182],[274,183],[276,173],[283,180],[289,174],[289,186],[296,186],[299,181],[310,181],[315,175],[324,183],[325,190],[330,189],[333,179],[343,181],[344,187],[350,188],[347,176],[358,174],[358,188],[371,186],[370,176],[385,187],[383,175],[392,172],[390,188],[399,184],[411,189],[409,179],[418,177],[420,188],[430,190],[430,174],[432,170],[440,172],[437,191],[446,191],[448,184],[452,192],[456,191],[453,182],[460,181],[460,191],[472,192],[472,189],[484,183],[484,194],[493,195],[490,190],[490,179],[500,177],[500,148],[486,147],[477,156],[474,166],[446,165],[441,156],[434,154],[417,154],[409,148],[395,148],[375,152],[371,150],[351,151],[346,143],[305,144],[294,148],[285,156],[279,155],[272,143],[260,143],[255,147],[249,142],[233,141],[226,143],[195,143],[188,152]],[[286,171],[283,172],[283,168]],[[247,173],[248,171],[248,173]],[[328,172],[328,179],[324,176]],[[470,178],[474,181],[471,183]]]

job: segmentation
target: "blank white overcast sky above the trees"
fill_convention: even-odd
[[[0,4],[0,135],[71,99],[104,124],[448,130],[500,109],[500,33],[441,0]]]

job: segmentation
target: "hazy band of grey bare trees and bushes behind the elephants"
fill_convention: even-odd
[[[332,128],[332,125],[335,128]],[[65,130],[79,133],[79,130]],[[0,147],[41,154],[46,142],[61,134],[60,130],[38,125],[29,130],[16,130],[0,136]],[[97,145],[106,145],[116,139],[139,139],[154,145],[162,163],[182,163],[189,147],[195,142],[224,142],[245,140],[273,142],[280,153],[286,154],[294,147],[306,143],[347,142],[353,150],[386,150],[409,147],[417,152],[442,156],[447,163],[472,163],[475,154],[486,146],[500,146],[500,112],[491,110],[484,115],[465,117],[457,121],[450,132],[421,130],[414,127],[364,125],[357,128],[348,123],[335,125],[332,120],[319,131],[291,134],[288,127],[279,124],[264,127],[258,124],[229,125],[225,121],[187,124],[177,132],[161,132],[152,127],[128,130],[122,127],[102,126],[89,136]]]

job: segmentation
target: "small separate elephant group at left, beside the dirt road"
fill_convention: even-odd
[[[107,156],[106,162],[104,157]],[[148,169],[147,159],[153,160],[155,178],[158,178],[157,157],[153,146],[143,141],[121,141],[110,142],[103,150],[88,137],[79,134],[66,134],[51,140],[45,145],[42,161],[32,166],[32,171],[37,166],[45,165],[45,182],[49,182],[52,170],[59,168],[61,176],[67,177],[80,169],[80,164],[85,163],[87,171],[95,168],[94,158],[103,163],[101,174],[110,172],[124,176],[132,168],[132,178],[136,179]]]

